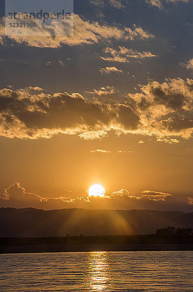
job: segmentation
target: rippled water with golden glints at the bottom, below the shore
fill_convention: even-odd
[[[193,252],[0,255],[0,292],[192,292]]]

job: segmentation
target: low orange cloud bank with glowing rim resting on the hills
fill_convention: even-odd
[[[69,197],[69,193],[74,196]],[[127,189],[121,189],[105,194],[104,198],[88,197],[86,192],[79,194],[79,196],[69,191],[65,191],[65,194],[68,196],[44,198],[35,193],[26,192],[20,183],[15,182],[4,190],[4,194],[0,198],[0,207],[34,207],[44,210],[86,208],[193,211],[193,200],[191,197],[182,201],[174,195],[157,191],[143,191],[142,194],[133,196],[129,194]]]

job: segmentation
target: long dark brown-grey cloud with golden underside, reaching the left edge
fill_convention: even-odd
[[[0,90],[0,135],[9,138],[51,138],[63,133],[96,139],[121,125],[136,128],[138,120],[129,106],[84,99],[79,93]]]

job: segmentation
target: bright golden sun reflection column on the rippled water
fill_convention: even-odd
[[[106,252],[91,252],[88,255],[88,280],[91,291],[104,291],[110,285],[107,258]]]

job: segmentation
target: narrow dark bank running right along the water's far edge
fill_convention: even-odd
[[[70,252],[193,251],[193,244],[95,244],[0,246],[0,254]]]

